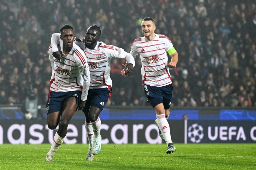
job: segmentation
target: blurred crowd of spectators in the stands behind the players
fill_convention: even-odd
[[[147,16],[179,53],[170,69],[171,106],[256,107],[253,0],[2,0],[0,16],[0,104],[22,104],[33,91],[45,106],[52,74],[47,50],[62,25],[81,39],[96,24],[100,41],[130,52]],[[145,106],[139,57],[128,77],[120,74],[125,61],[111,62],[108,105]]]

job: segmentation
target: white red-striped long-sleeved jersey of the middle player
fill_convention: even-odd
[[[58,51],[57,44],[61,41],[59,35],[58,33],[52,35],[51,42],[54,46],[54,51]],[[82,40],[75,38],[74,43],[87,53],[86,57],[91,76],[90,89],[109,89],[112,87],[112,80],[109,75],[111,58],[124,58],[128,63],[132,63],[135,66],[133,56],[122,48],[107,45],[104,42],[97,42],[94,49],[89,49],[85,47],[84,38]]]

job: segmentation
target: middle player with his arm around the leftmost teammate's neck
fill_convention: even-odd
[[[94,25],[87,29],[82,40],[75,38],[74,41],[88,55],[87,60],[91,76],[88,98],[83,109],[86,117],[85,128],[90,145],[86,158],[88,161],[94,160],[94,155],[98,154],[101,149],[101,120],[99,115],[112,94],[112,80],[109,75],[110,60],[111,58],[126,59],[128,63],[125,67],[126,75],[130,75],[135,66],[135,61],[131,54],[125,52],[122,48],[99,42],[100,35],[100,28]],[[53,52],[56,51],[58,56],[61,56],[60,51],[57,49],[60,41],[59,34],[52,35]]]

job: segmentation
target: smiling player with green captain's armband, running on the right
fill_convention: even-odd
[[[137,55],[140,56],[144,92],[148,102],[156,111],[155,124],[159,128],[159,135],[166,141],[168,147],[166,153],[170,154],[176,152],[176,148],[167,122],[173,91],[169,68],[176,67],[178,53],[168,37],[155,34],[154,19],[145,17],[141,28],[144,37],[135,39],[130,53],[134,58]],[[167,53],[172,57],[170,62],[168,62]]]

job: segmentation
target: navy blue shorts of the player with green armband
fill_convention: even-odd
[[[153,108],[158,104],[163,103],[164,109],[170,109],[172,102],[172,84],[157,87],[144,84],[144,93],[148,98],[148,101]]]

